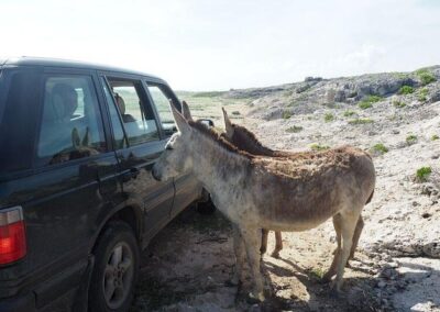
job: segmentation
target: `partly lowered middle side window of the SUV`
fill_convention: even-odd
[[[153,111],[145,102],[141,81],[107,78],[114,97],[129,145],[158,141]]]

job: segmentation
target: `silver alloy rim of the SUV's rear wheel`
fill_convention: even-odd
[[[133,252],[124,243],[118,243],[111,250],[102,279],[103,297],[110,309],[118,309],[125,301],[133,282]]]

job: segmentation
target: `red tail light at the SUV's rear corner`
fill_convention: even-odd
[[[21,207],[0,210],[0,265],[10,264],[26,254],[26,234]]]

